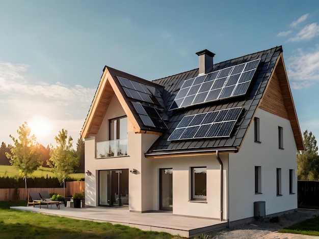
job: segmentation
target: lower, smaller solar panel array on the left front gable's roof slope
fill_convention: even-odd
[[[159,115],[158,109],[142,105],[140,102],[132,102],[132,104],[144,125],[167,129],[161,115]]]

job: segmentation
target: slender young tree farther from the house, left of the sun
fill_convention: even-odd
[[[24,177],[25,198],[28,199],[26,181],[28,180],[28,174],[32,174],[40,166],[39,144],[36,142],[34,135],[30,136],[31,129],[26,122],[19,127],[17,133],[19,135],[18,139],[10,135],[14,146],[10,153],[6,153],[6,156],[10,159],[10,164],[19,169],[20,175]]]

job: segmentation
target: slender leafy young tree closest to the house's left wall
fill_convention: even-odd
[[[67,130],[62,129],[59,131],[55,140],[57,146],[50,152],[50,167],[53,168],[52,171],[56,174],[59,182],[61,184],[63,182],[65,196],[65,179],[70,173],[74,172],[74,168],[78,166],[79,160],[72,147],[73,139],[71,136],[68,137]]]

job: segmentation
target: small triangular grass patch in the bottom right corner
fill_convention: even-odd
[[[279,232],[319,236],[319,217],[308,219],[287,228],[280,229]]]

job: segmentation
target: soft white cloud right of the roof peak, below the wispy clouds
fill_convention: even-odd
[[[294,56],[288,58],[287,74],[295,89],[319,82],[319,47],[309,52],[298,49]]]

